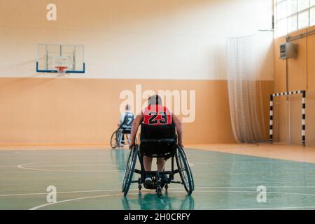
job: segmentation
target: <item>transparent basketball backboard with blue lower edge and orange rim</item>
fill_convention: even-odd
[[[85,73],[84,45],[38,44],[36,72]]]

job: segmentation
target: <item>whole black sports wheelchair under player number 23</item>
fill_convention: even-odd
[[[165,158],[165,160],[171,158],[171,170],[146,172],[144,170],[144,155],[152,158]],[[141,169],[135,169],[137,158],[139,158]],[[134,173],[140,174],[138,180],[132,179]],[[174,181],[174,175],[177,173],[179,173],[181,181]],[[153,185],[151,188],[144,185],[146,174],[152,176]],[[163,174],[169,175],[167,180],[162,179]],[[177,145],[175,124],[159,126],[141,124],[140,146],[136,144],[130,150],[130,155],[127,159],[122,186],[125,196],[130,189],[131,183],[138,183],[139,191],[141,191],[142,185],[147,189],[155,189],[158,197],[162,195],[162,186],[165,187],[167,192],[170,183],[181,183],[188,195],[193,193],[195,188],[193,174],[186,153],[181,146]]]

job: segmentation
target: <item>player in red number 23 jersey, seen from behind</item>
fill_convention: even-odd
[[[162,100],[159,95],[153,95],[148,99],[148,106],[134,119],[132,123],[132,130],[130,134],[130,148],[134,147],[135,139],[138,131],[139,125],[172,125],[172,123],[176,126],[177,133],[177,145],[183,147],[183,125],[181,120],[177,118],[166,106],[162,106]],[[157,166],[158,172],[163,172],[165,170],[165,162],[167,158],[157,158]],[[151,172],[152,167],[152,157],[148,157],[144,155],[144,169],[146,172]],[[162,181],[167,180],[167,175],[162,175]],[[152,176],[150,174],[146,174],[144,185],[148,188],[152,186]]]

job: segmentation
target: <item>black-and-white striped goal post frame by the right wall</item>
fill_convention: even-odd
[[[273,137],[273,127],[274,127],[274,97],[288,96],[291,94],[302,94],[302,146],[305,146],[305,98],[306,98],[306,90],[299,91],[290,91],[290,92],[278,92],[274,94],[270,94],[270,118],[269,118],[269,142],[272,144],[274,141]]]

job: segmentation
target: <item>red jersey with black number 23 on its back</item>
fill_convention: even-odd
[[[149,105],[144,111],[143,123],[146,125],[171,125],[172,113],[166,106],[161,105]]]

